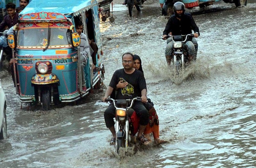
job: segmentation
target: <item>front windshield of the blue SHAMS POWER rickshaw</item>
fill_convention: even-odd
[[[59,47],[71,45],[69,27],[72,24],[64,23],[21,23],[17,34],[17,45],[25,47]],[[49,31],[49,32],[48,32]],[[50,33],[50,41],[48,41]]]

